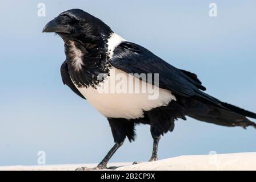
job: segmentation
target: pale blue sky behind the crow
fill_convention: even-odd
[[[46,17],[37,5],[46,5]],[[218,5],[210,18],[209,3]],[[0,166],[97,163],[113,145],[106,119],[62,84],[63,42],[42,28],[79,8],[175,67],[197,73],[207,93],[256,111],[255,1],[5,1],[0,7]],[[255,120],[254,120],[255,121]],[[195,121],[175,123],[159,143],[159,158],[250,152],[256,131]],[[125,142],[111,162],[150,158],[149,126]]]

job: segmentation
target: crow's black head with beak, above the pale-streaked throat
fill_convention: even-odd
[[[109,36],[112,31],[100,19],[80,9],[71,9],[59,14],[43,28],[43,32],[55,32],[63,40],[97,39]],[[86,40],[85,40],[86,41]]]

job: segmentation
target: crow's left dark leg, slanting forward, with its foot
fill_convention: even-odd
[[[111,156],[113,156],[113,154],[115,153],[115,151],[118,150],[119,147],[121,147],[123,144],[123,142],[121,143],[115,143],[114,146],[110,149],[109,152],[107,152],[107,155],[105,156],[105,158],[98,164],[97,167],[94,168],[87,168],[87,167],[79,167],[77,169],[75,169],[75,171],[87,171],[87,170],[99,170],[99,169],[107,169],[107,162],[109,162],[109,159],[111,158]],[[115,167],[110,167],[110,169],[114,169]]]

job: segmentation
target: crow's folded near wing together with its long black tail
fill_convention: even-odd
[[[256,124],[246,118],[256,118],[255,113],[226,104],[202,92],[206,89],[197,75],[173,67],[137,44],[122,42],[114,49],[114,55],[109,62],[126,73],[158,73],[158,86],[178,96],[175,102],[178,107],[173,104],[171,108],[180,108],[179,104],[182,104],[185,115],[217,125],[256,128]]]

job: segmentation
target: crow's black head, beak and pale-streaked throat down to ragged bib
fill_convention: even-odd
[[[109,72],[107,42],[113,31],[100,19],[83,10],[67,10],[43,28],[65,42],[65,63],[78,86],[96,85],[99,73]]]

